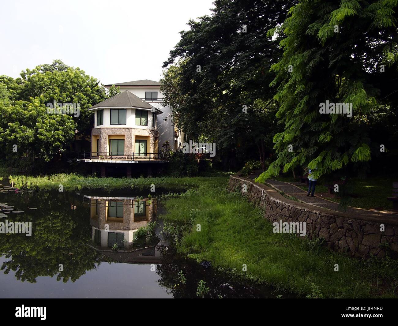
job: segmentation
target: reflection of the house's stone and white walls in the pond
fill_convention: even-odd
[[[156,199],[134,197],[87,196],[90,205],[92,240],[97,249],[108,249],[117,243],[119,249],[133,248],[134,233],[156,221]]]

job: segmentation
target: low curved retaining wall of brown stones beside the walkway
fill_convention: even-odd
[[[246,185],[247,191],[242,191]],[[235,191],[237,187],[248,201],[262,207],[265,218],[278,222],[306,222],[306,236],[320,236],[326,240],[328,248],[344,252],[358,258],[368,258],[370,254],[382,258],[385,250],[393,254],[398,252],[398,221],[385,222],[382,218],[376,221],[361,219],[361,217],[314,207],[287,199],[275,189],[266,185],[254,183],[253,180],[239,176],[231,176],[228,190]],[[384,231],[380,231],[384,224]],[[388,243],[390,249],[380,244]]]

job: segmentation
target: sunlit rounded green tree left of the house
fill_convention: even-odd
[[[0,152],[2,158],[47,162],[68,150],[76,135],[90,135],[92,105],[107,98],[98,80],[60,60],[0,76]],[[48,114],[48,103],[79,104],[80,115]],[[15,147],[15,145],[17,145]]]

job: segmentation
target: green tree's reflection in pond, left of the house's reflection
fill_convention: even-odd
[[[21,198],[22,197],[22,198]],[[32,222],[32,235],[4,234],[0,237],[0,255],[11,258],[3,263],[4,273],[15,271],[21,281],[36,282],[38,276],[55,276],[66,283],[76,281],[87,270],[96,268],[99,254],[86,245],[91,238],[87,208],[71,205],[72,196],[40,191],[10,197],[9,205],[21,202],[37,210],[9,214],[12,222]],[[14,199],[15,203],[11,201]],[[75,206],[75,209],[72,207]],[[59,271],[59,264],[63,271]]]

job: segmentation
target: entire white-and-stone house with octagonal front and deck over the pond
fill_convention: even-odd
[[[165,162],[162,144],[168,141],[173,151],[178,150],[183,133],[175,129],[170,107],[160,103],[159,82],[136,80],[115,86],[120,86],[119,94],[89,109],[94,112],[91,151],[84,152],[81,161],[92,164],[93,173],[100,170],[101,177],[131,177],[137,163],[150,175],[153,167]]]

